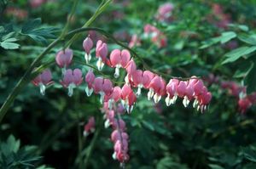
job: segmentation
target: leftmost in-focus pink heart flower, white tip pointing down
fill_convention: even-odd
[[[44,95],[46,86],[53,83],[50,70],[44,70],[40,75],[38,75],[34,80],[32,80],[32,83],[35,86],[39,86],[40,93]]]

